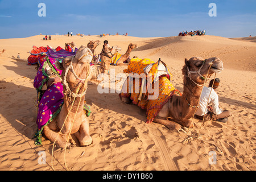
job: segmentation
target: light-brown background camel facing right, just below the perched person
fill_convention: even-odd
[[[121,48],[118,46],[110,47],[109,45],[103,46],[102,51],[100,53],[101,56],[101,64],[92,65],[92,79],[97,79],[98,75],[101,73],[107,74],[109,71],[111,58],[114,56],[116,52],[121,51]]]

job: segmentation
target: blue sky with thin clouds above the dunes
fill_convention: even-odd
[[[38,16],[39,3],[46,17]],[[210,3],[216,3],[216,17],[208,14]],[[68,31],[167,37],[203,29],[228,38],[256,36],[256,1],[0,0],[0,39]]]

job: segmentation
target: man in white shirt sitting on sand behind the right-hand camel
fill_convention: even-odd
[[[218,88],[218,85],[220,83],[220,79],[216,78],[214,81],[213,89],[212,89],[212,84],[213,80],[210,80],[209,87],[204,86],[201,97],[200,97],[200,102],[199,102],[199,107],[196,110],[195,116],[201,120],[204,118],[204,112],[205,112],[205,121],[210,121],[211,119],[213,121],[219,121],[219,122],[227,122],[228,117],[230,117],[232,114],[228,110],[222,110],[218,106],[218,95],[214,91],[215,89]],[[212,93],[210,93],[210,90],[212,89]],[[209,104],[212,104],[212,106],[207,106],[207,101],[208,97],[209,98]],[[207,107],[205,111],[205,107]]]

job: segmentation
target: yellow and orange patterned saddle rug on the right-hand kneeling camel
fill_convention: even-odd
[[[144,96],[140,97],[141,92],[143,90],[142,79],[139,80],[139,84],[136,84],[135,80],[129,79],[129,76],[128,76],[127,80],[125,81],[122,87],[122,92],[119,94],[119,97],[130,98],[133,101],[133,104],[138,105],[142,109],[147,110],[146,111],[147,123],[151,123],[152,121],[154,121],[154,118],[156,117],[156,115],[158,115],[159,111],[163,108],[164,104],[166,104],[175,93],[181,95],[179,90],[175,89],[174,85],[171,84],[172,75],[170,72],[167,71],[166,74],[160,75],[160,76],[157,74],[159,69],[159,64],[160,64],[160,61],[157,61],[155,63],[150,59],[141,60],[136,58],[136,59],[131,59],[128,65],[128,68],[123,71],[125,73],[137,73],[138,75],[140,75],[144,73],[145,71],[144,68],[148,67],[148,65],[151,65],[150,67],[151,69],[148,71],[148,73],[152,74],[152,79],[151,80],[147,79],[147,80],[152,82],[147,81],[146,86],[147,88],[151,89],[151,91],[154,90],[154,93],[149,92],[149,89],[148,89],[147,92],[143,94]],[[147,76],[148,76],[148,73],[147,73]],[[133,88],[129,87],[131,84],[133,84]],[[155,90],[155,87],[158,89]],[[138,93],[136,92],[136,90],[141,90],[141,92]],[[152,97],[154,99],[149,99],[150,96],[156,96],[156,97]]]

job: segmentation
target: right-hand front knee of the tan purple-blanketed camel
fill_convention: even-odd
[[[92,137],[89,135],[89,122],[85,119],[81,123],[79,131],[75,133],[77,139],[79,139],[80,146],[89,146],[92,143]]]

